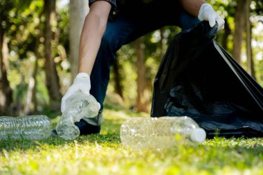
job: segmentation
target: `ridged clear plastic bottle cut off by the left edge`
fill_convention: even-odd
[[[0,140],[42,140],[52,133],[47,116],[0,117]]]

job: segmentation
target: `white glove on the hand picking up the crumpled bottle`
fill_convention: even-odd
[[[73,95],[76,92],[81,92],[84,95],[89,95],[89,90],[91,89],[91,80],[89,78],[89,74],[87,73],[78,73],[78,75],[75,77],[75,80],[73,84],[69,87],[69,89],[66,91],[65,95],[62,98],[61,102],[61,111],[64,112],[66,105],[67,105],[67,99]]]

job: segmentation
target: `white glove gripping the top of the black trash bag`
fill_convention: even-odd
[[[221,18],[219,15],[217,15],[217,12],[210,6],[208,3],[203,3],[200,10],[198,19],[200,21],[206,20],[209,21],[209,25],[212,28],[215,26],[215,22],[217,21],[218,28],[217,31],[224,29],[225,21],[223,18]]]

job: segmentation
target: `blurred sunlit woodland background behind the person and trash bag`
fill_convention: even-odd
[[[207,2],[226,21],[216,41],[263,86],[262,0]],[[88,0],[0,0],[0,116],[60,115],[88,12]],[[180,31],[165,26],[118,50],[106,108],[149,113],[158,66]]]

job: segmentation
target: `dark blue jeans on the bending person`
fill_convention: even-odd
[[[90,93],[101,105],[100,115],[109,84],[110,66],[115,61],[116,51],[121,46],[163,26],[179,26],[182,30],[186,30],[199,23],[197,17],[189,15],[178,4],[176,6],[163,4],[163,7],[160,7],[160,4],[157,4],[156,6],[149,6],[142,15],[140,15],[140,10],[136,12],[134,17],[120,14],[115,21],[107,23],[107,29],[102,37],[96,62],[91,72]],[[160,9],[163,9],[163,12],[160,12]],[[92,124],[100,125],[100,122]]]

